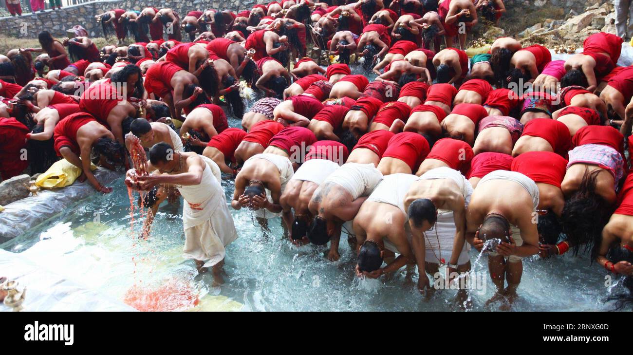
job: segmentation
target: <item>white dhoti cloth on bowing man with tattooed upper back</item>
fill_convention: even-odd
[[[382,180],[382,173],[373,164],[345,163],[325,179],[348,190],[352,199],[369,196]]]

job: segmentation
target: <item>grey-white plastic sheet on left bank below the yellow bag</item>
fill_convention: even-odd
[[[121,173],[99,168],[94,171],[94,176],[107,186]],[[0,212],[0,244],[36,227],[91,194],[98,193],[89,182],[76,181],[61,189],[40,190],[37,196],[9,203]]]

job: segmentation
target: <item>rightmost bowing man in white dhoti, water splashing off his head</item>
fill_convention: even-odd
[[[521,259],[539,252],[538,205],[539,188],[522,173],[495,170],[477,184],[466,213],[467,240],[478,251],[486,240],[501,240],[488,258],[497,287],[489,302],[505,297],[512,304],[516,298],[523,273]],[[504,289],[505,278],[508,287]]]

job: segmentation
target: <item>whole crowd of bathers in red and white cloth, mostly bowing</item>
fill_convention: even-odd
[[[359,277],[406,267],[411,281],[417,266],[431,293],[429,277],[468,272],[470,248],[485,245],[493,299],[508,304],[536,254],[588,254],[633,290],[622,39],[592,34],[582,53],[553,61],[544,46],[500,37],[468,58],[478,13],[498,23],[503,12],[501,0],[284,0],[185,16],[111,9],[96,20],[118,42],[101,49],[80,26],[63,40],[42,31],[41,48],[0,55],[0,174],[65,158],[108,193],[91,161],[129,169],[131,132],[154,171],[125,180],[149,191],[144,234],[158,205],[182,195],[185,254],[216,280],[237,238],[223,176],[235,180],[232,208],[263,228],[281,216],[297,246],[330,243],[336,261],[346,232]],[[315,46],[336,62],[308,57]],[[245,86],[261,97],[248,111]]]

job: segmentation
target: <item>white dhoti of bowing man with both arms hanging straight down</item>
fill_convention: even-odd
[[[455,184],[458,185],[461,196],[464,197],[464,207],[468,208],[473,187],[466,177],[461,175],[460,171],[442,166],[423,173],[418,180],[434,180],[438,178],[449,178],[453,180]],[[453,211],[449,209],[438,209],[437,221],[433,230],[425,232],[425,260],[428,263],[448,264],[451,261],[456,229]],[[464,265],[470,261],[468,251],[470,251],[470,244],[464,243],[457,265]]]

